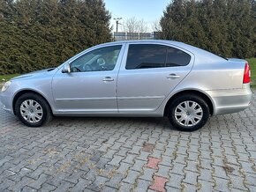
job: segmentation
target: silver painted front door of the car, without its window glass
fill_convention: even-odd
[[[58,70],[56,72],[52,80],[56,113],[117,113],[117,74],[125,44],[116,43],[115,45],[123,45],[123,47],[114,70],[77,73],[62,73]],[[90,51],[94,49],[91,48]],[[112,78],[113,81],[104,81],[105,78]]]

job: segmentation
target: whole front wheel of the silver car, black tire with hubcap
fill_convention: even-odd
[[[48,102],[33,92],[21,95],[14,110],[19,120],[28,127],[41,127],[52,119]]]

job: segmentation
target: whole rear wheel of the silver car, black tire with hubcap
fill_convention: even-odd
[[[210,116],[207,102],[196,94],[181,95],[169,105],[170,124],[182,131],[202,128]]]

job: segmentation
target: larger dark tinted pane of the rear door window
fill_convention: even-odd
[[[165,67],[166,46],[130,45],[126,70]]]

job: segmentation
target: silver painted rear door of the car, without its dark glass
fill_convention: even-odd
[[[169,69],[125,70],[129,44],[148,44],[148,42],[136,41],[127,44],[117,81],[118,111],[121,114],[152,113],[161,105],[169,92],[192,70],[194,55],[184,48],[180,48],[192,56],[191,62],[187,66]],[[154,44],[169,46],[166,43],[154,42]],[[177,48],[177,46],[173,47]],[[176,74],[180,78],[171,78],[171,74]]]

